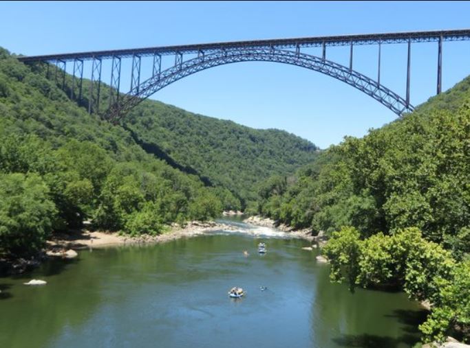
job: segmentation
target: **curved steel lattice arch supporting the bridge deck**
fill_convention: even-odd
[[[222,49],[207,55],[200,52],[196,58],[184,62],[181,59],[177,61],[173,67],[161,71],[141,84],[134,86],[127,95],[123,95],[118,102],[111,105],[104,116],[106,119],[117,122],[122,119],[131,108],[142,102],[142,100],[145,100],[150,95],[153,95],[153,93],[160,91],[160,89],[186,76],[211,67],[227,65],[234,62],[253,61],[280,62],[324,73],[325,75],[336,78],[359,89],[359,91],[374,98],[398,116],[402,115],[404,112],[413,111],[414,109],[403,97],[400,97],[400,95],[387,89],[387,87],[379,84],[375,80],[372,80],[372,78],[368,78],[353,69],[332,62],[331,60],[285,49],[241,48]]]

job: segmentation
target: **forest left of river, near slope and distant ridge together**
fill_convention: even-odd
[[[86,112],[88,80],[78,104],[72,86],[78,95],[72,76],[0,49],[0,256],[32,255],[52,231],[87,219],[96,229],[136,235],[242,209],[255,184],[318,153],[284,131],[154,101],[114,126]],[[102,84],[101,110],[109,92]]]

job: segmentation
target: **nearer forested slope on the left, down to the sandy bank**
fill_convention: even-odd
[[[160,233],[222,211],[228,190],[147,154],[42,72],[0,51],[0,256],[33,255],[52,231],[86,219],[98,229]]]

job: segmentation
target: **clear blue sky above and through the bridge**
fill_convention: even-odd
[[[0,46],[25,55],[225,40],[463,29],[468,1],[0,2]],[[319,51],[306,53],[319,54]],[[349,47],[327,50],[348,65]],[[382,50],[383,84],[405,95],[406,45]],[[143,63],[142,73],[148,73]],[[412,104],[436,91],[437,44],[412,47]],[[109,69],[103,73],[109,83]],[[129,69],[123,64],[122,69]],[[376,47],[354,48],[354,69],[376,76]],[[470,43],[445,43],[443,89],[470,75]],[[122,91],[129,80],[122,80]],[[395,119],[367,95],[299,67],[244,62],[184,78],[152,96],[255,128],[280,128],[321,148]]]

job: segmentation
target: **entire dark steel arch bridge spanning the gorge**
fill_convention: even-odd
[[[350,84],[359,91],[374,98],[396,115],[413,111],[410,104],[410,74],[411,74],[411,47],[412,43],[438,43],[438,71],[437,93],[442,86],[442,43],[444,41],[470,40],[470,30],[445,30],[432,32],[403,32],[387,34],[363,34],[347,36],[322,36],[313,38],[288,38],[274,40],[239,41],[232,43],[209,43],[201,45],[184,45],[168,47],[150,47],[143,49],[122,49],[114,51],[94,51],[76,54],[55,54],[48,56],[20,57],[19,60],[29,62],[47,63],[47,77],[49,77],[50,63],[56,65],[54,78],[58,84],[65,88],[65,75],[67,62],[73,62],[72,86],[70,97],[82,99],[83,65],[85,60],[92,61],[91,84],[89,84],[88,111],[98,113],[105,119],[118,122],[137,104],[156,93],[165,86],[178,81],[193,73],[227,65],[234,62],[280,62],[295,65],[313,71],[324,73],[342,82]],[[400,97],[394,91],[381,84],[381,45],[405,43],[407,44],[407,80],[406,95]],[[355,45],[377,45],[377,78],[369,78],[359,71],[352,69],[353,47]],[[326,59],[326,47],[349,46],[349,67]],[[304,47],[321,47],[321,56],[313,56],[301,52]],[[183,60],[183,55],[189,58]],[[153,57],[151,77],[140,82],[141,59],[146,56]],[[162,69],[162,56],[174,56],[174,65]],[[120,93],[121,60],[132,58],[131,88],[128,93]],[[111,82],[109,94],[109,107],[100,113],[100,84],[103,60],[111,60]],[[62,81],[58,81],[58,71],[61,71]],[[78,89],[78,91],[76,91]],[[78,93],[76,93],[78,92]]]

